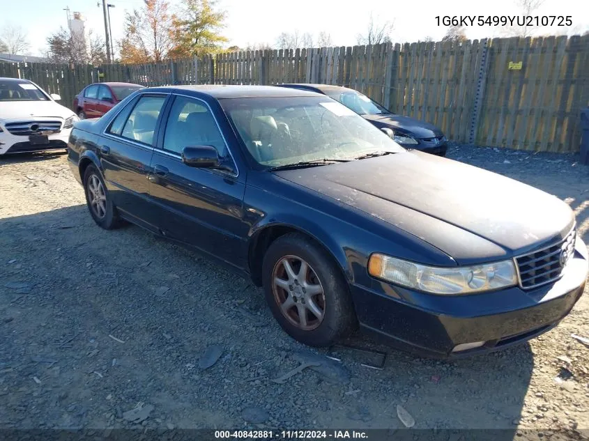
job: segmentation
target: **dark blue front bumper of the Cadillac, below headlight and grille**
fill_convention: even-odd
[[[578,239],[574,257],[552,284],[523,291],[514,286],[473,295],[431,295],[374,280],[372,288],[351,287],[363,330],[391,346],[429,357],[463,357],[513,346],[556,326],[585,287],[586,246]],[[452,352],[459,345],[482,346]]]

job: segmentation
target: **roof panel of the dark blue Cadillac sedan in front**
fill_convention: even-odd
[[[147,90],[161,91],[194,91],[204,93],[216,99],[224,98],[281,98],[293,96],[316,96],[319,93],[311,91],[301,91],[298,89],[286,89],[274,86],[237,86],[222,84],[201,84],[190,86],[167,86],[158,88],[148,88]]]

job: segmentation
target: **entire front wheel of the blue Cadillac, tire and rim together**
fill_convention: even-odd
[[[348,285],[319,245],[299,233],[275,240],[263,259],[263,286],[286,333],[309,346],[330,346],[356,324]]]

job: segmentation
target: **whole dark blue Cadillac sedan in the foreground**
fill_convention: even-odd
[[[146,88],[76,123],[68,149],[96,224],[247,274],[308,345],[359,326],[422,355],[498,350],[558,324],[585,286],[567,204],[407,151],[319,93]]]

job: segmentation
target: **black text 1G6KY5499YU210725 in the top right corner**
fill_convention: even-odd
[[[572,15],[437,15],[438,26],[572,26]]]

